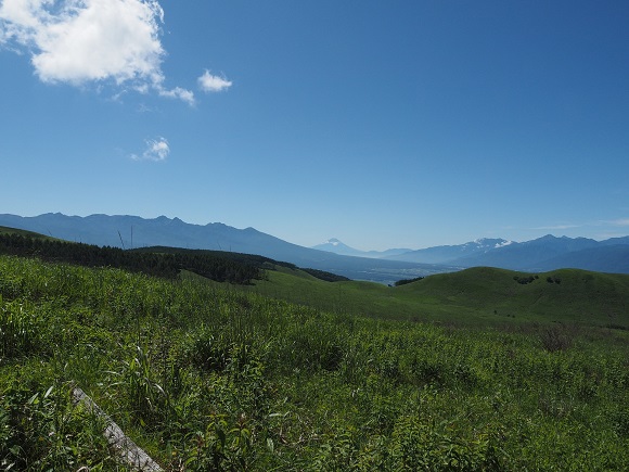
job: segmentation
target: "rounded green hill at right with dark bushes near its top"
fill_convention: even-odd
[[[523,273],[478,267],[397,288],[426,305],[535,321],[629,327],[629,276],[562,269]]]

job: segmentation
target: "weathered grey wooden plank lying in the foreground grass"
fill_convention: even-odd
[[[140,449],[120,428],[79,387],[72,392],[75,405],[84,404],[89,411],[103,418],[107,426],[103,435],[107,442],[118,451],[120,462],[132,467],[142,472],[163,471],[157,462],[149,457],[146,452]]]

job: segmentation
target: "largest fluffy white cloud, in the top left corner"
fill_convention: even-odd
[[[164,86],[163,23],[156,0],[4,0],[0,46],[29,53],[44,82],[110,80],[192,104],[192,91]]]

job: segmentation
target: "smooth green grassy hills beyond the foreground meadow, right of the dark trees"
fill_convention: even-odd
[[[372,282],[330,283],[283,268],[243,290],[374,318],[467,326],[566,322],[629,328],[629,276],[583,270],[531,275],[482,267],[390,288]]]

